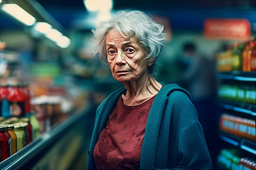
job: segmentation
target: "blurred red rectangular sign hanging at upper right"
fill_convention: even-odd
[[[220,40],[248,40],[251,24],[246,19],[206,19],[204,37]]]

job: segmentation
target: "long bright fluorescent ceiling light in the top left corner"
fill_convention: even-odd
[[[36,18],[20,8],[17,4],[2,4],[1,8],[9,15],[28,26],[31,26],[36,22]]]

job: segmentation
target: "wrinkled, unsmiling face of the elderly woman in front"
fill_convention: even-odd
[[[145,60],[145,53],[135,38],[124,38],[117,30],[106,35],[108,64],[119,82],[138,79],[153,62]]]

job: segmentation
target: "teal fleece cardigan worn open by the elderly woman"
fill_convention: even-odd
[[[96,170],[94,146],[117,100],[125,91],[126,88],[120,88],[111,93],[97,108],[87,170]],[[198,121],[198,113],[191,102],[191,95],[177,84],[168,84],[161,88],[148,115],[140,170],[157,169],[212,169],[204,132]]]

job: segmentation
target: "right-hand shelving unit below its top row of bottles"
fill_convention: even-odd
[[[218,167],[253,170],[256,162],[256,73],[219,71],[217,79],[218,135],[223,142],[219,144],[222,148]]]

